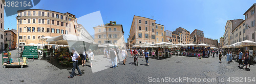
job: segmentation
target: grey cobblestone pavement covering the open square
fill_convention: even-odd
[[[16,50],[11,51],[15,53]],[[2,54],[0,54],[2,56]],[[12,57],[15,57],[15,54]],[[102,56],[97,56],[98,58]],[[2,58],[1,58],[2,60]],[[54,61],[54,60],[52,60]],[[118,64],[116,69],[107,68],[93,72],[88,66],[79,68],[82,76],[67,78],[72,69],[60,67],[46,60],[29,60],[29,67],[0,68],[1,83],[155,83],[153,78],[200,78],[201,82],[174,82],[174,83],[255,83],[245,82],[244,77],[255,77],[255,66],[249,69],[238,68],[237,62],[226,63],[225,57],[219,63],[219,57],[197,59],[195,57],[172,56],[166,59],[149,60],[150,66],[145,66],[144,58],[139,58],[139,66],[133,65],[133,58],[127,57],[126,65]],[[87,63],[89,64],[89,63]],[[75,71],[76,73],[77,70]],[[243,82],[229,82],[228,77],[243,77]],[[203,82],[203,78],[216,78],[216,82]],[[224,82],[219,81],[225,78]],[[241,78],[240,78],[241,79]],[[239,80],[240,80],[239,79]],[[157,79],[156,79],[157,80]],[[171,81],[171,80],[170,80]],[[236,80],[234,80],[236,81]],[[172,82],[160,82],[172,83]]]

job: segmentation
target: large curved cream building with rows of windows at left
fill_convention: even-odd
[[[61,34],[74,34],[80,36],[77,28],[76,16],[70,13],[59,13],[50,10],[28,9],[19,10],[19,28],[17,20],[17,33],[19,46],[28,44],[47,44],[40,40],[44,36],[58,36]]]

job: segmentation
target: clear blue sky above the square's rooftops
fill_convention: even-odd
[[[204,31],[205,37],[219,39],[224,34],[227,20],[244,19],[244,13],[256,3],[239,0],[172,0],[172,1],[53,1],[41,0],[33,9],[45,9],[60,13],[72,13],[77,18],[100,11],[103,23],[116,21],[122,24],[125,42],[130,32],[133,16],[151,18],[165,26],[166,30],[183,27],[190,32]],[[5,29],[16,28],[16,15],[5,17]],[[83,25],[86,26],[86,25]]]

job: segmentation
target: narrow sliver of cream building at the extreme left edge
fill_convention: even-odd
[[[0,19],[0,23],[1,23],[1,28],[0,28],[0,51],[4,50],[4,33],[5,33],[5,10],[3,4],[5,3],[5,0],[0,1],[1,4],[1,9],[0,9],[0,13],[1,13],[1,19]]]

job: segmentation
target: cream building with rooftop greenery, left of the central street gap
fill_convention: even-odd
[[[94,42],[101,44],[113,44],[118,48],[125,48],[123,26],[117,25],[101,25],[94,28]]]

